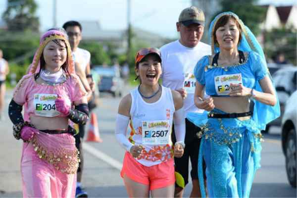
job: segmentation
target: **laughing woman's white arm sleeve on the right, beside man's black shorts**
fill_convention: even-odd
[[[184,108],[174,112],[173,115],[174,131],[177,143],[184,143],[186,136],[186,121]]]

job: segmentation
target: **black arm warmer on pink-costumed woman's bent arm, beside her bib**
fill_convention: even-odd
[[[87,121],[89,120],[88,104],[82,103],[82,104],[75,106],[74,109],[71,108],[68,118],[76,124],[85,125],[87,123]]]

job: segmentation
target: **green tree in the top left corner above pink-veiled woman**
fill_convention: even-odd
[[[39,32],[39,18],[35,16],[35,0],[7,0],[7,9],[2,14],[9,31],[31,30]]]

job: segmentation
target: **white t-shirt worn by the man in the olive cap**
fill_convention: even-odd
[[[200,58],[211,54],[211,47],[199,42],[194,48],[183,46],[179,40],[161,47],[162,85],[172,90],[186,89],[184,99],[185,116],[189,112],[203,112],[194,104],[195,77],[194,68]]]

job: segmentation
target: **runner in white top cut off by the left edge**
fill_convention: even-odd
[[[0,49],[0,120],[3,119],[2,110],[4,107],[4,96],[6,91],[5,79],[6,79],[6,75],[9,73],[8,63],[2,57],[3,57],[3,53],[2,53],[2,50]]]

